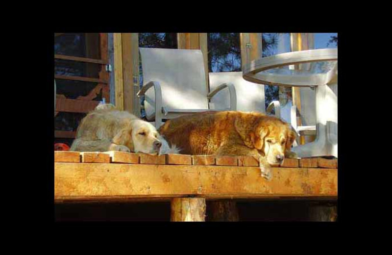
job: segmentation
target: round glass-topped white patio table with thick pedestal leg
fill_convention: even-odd
[[[338,49],[294,51],[260,58],[244,66],[243,77],[263,85],[315,87],[316,139],[292,151],[299,157],[338,157],[337,96],[336,100],[330,100],[331,87],[337,91]]]

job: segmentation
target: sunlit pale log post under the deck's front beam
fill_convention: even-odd
[[[171,221],[205,221],[204,198],[173,198]]]

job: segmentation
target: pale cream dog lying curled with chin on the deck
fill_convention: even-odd
[[[99,104],[82,119],[71,151],[78,152],[141,152],[179,153],[150,123],[112,104]]]

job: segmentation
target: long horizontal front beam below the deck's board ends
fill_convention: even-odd
[[[337,198],[337,169],[54,163],[56,200],[197,196],[219,198]]]

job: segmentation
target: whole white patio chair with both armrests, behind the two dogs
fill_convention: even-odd
[[[140,48],[143,68],[143,87],[138,96],[145,95],[148,121],[155,127],[163,119],[173,119],[184,114],[218,110],[209,108],[209,99],[219,91],[229,91],[229,108],[236,110],[237,98],[234,85],[229,80],[208,93],[200,50]]]

